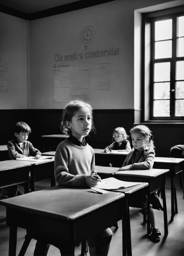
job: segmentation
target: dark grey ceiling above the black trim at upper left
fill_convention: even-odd
[[[79,0],[0,0],[0,4],[18,11],[34,13],[77,1]]]

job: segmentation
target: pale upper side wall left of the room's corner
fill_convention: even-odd
[[[0,109],[27,108],[27,21],[0,12],[0,66],[8,67]],[[8,75],[8,77],[7,77]]]

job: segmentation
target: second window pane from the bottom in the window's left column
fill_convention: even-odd
[[[170,83],[154,84],[154,99],[170,99]]]

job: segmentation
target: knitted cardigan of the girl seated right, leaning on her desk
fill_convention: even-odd
[[[138,163],[133,162],[134,150],[128,153],[123,166],[133,165],[134,170],[149,170],[153,168],[155,151],[150,148],[145,148],[142,157]]]

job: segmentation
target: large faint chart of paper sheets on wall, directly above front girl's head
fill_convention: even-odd
[[[89,98],[89,68],[87,65],[53,68],[53,102]]]

